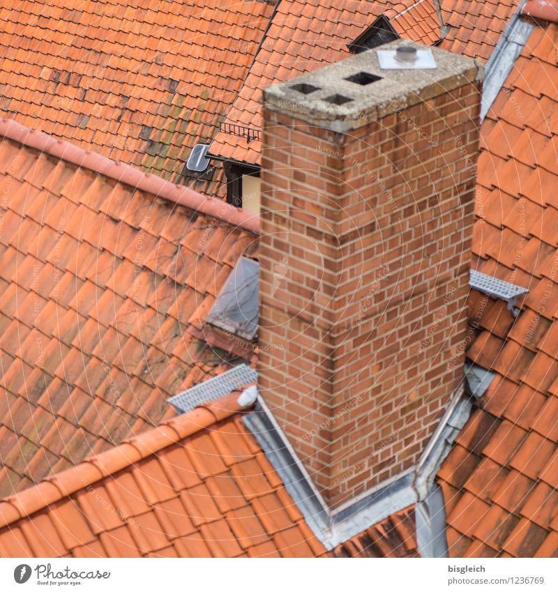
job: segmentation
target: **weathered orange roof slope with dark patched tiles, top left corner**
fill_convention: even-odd
[[[209,143],[241,88],[272,10],[231,0],[9,3],[0,109],[183,181],[190,150]],[[213,195],[219,181],[195,185]]]

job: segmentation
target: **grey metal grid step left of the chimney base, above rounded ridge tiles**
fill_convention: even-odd
[[[192,388],[187,388],[182,393],[170,397],[168,402],[175,407],[176,411],[186,413],[192,411],[199,404],[228,395],[235,388],[240,388],[256,380],[257,372],[246,364],[240,364],[219,374],[219,376],[200,382]]]

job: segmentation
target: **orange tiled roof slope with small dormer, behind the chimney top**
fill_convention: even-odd
[[[415,3],[415,0],[349,0],[341,3],[282,0],[246,82],[227,114],[226,123],[259,130],[262,127],[262,88],[349,56],[347,43],[367,29],[376,17],[383,13],[389,18],[396,17]],[[435,29],[432,8],[433,3],[425,0],[393,24],[402,36],[432,43],[439,37],[439,33],[432,32]],[[425,26],[421,29],[417,20],[423,17]],[[407,24],[412,24],[412,29],[407,29]],[[209,151],[220,158],[259,165],[261,148],[258,139],[248,142],[221,131]]]

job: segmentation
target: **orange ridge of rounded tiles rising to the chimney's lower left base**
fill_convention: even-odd
[[[221,420],[252,407],[239,400],[243,388],[233,390],[211,402],[197,405],[192,411],[173,417],[151,430],[123,441],[66,471],[55,473],[12,496],[0,499],[0,529],[17,520],[31,516],[52,503],[74,494],[80,489],[110,476],[130,464],[140,462],[160,450],[197,434]]]

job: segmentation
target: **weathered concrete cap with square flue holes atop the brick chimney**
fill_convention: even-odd
[[[435,68],[385,70],[377,52],[430,50]],[[475,59],[398,39],[264,90],[267,109],[344,132],[483,77]]]

